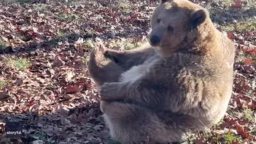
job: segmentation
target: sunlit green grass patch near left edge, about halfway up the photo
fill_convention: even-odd
[[[31,63],[28,59],[8,56],[5,58],[5,66],[15,70],[24,70],[30,67]]]

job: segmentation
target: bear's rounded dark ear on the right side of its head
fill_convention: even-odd
[[[192,24],[192,28],[197,27],[202,24],[207,17],[207,11],[205,9],[199,9],[197,11],[193,11],[190,14],[190,22]]]

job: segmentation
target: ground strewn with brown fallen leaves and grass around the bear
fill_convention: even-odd
[[[236,43],[234,87],[226,117],[186,142],[256,142],[256,2],[195,0]],[[95,38],[130,50],[149,34],[156,1],[2,0],[0,143],[114,143],[101,118],[86,62]],[[5,124],[24,126],[20,139]]]

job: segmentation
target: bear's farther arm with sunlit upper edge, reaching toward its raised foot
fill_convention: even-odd
[[[121,66],[124,71],[133,66],[141,65],[147,59],[157,56],[152,46],[143,46],[135,50],[107,50],[106,56],[114,59],[117,65]]]

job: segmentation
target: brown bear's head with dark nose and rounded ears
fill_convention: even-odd
[[[209,12],[187,0],[162,0],[150,23],[149,43],[162,56],[197,47],[214,31]]]

